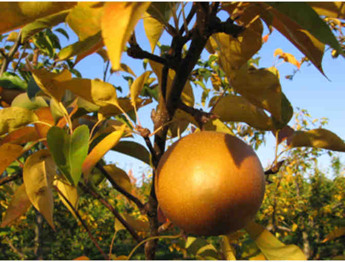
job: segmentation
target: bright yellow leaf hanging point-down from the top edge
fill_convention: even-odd
[[[120,69],[123,49],[150,2],[108,2],[102,16],[102,35],[112,69]]]

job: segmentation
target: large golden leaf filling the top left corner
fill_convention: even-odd
[[[72,8],[75,2],[4,2],[0,34],[20,28],[37,18]]]

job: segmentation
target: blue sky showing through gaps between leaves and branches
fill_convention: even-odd
[[[219,17],[222,21],[225,21],[227,14],[221,12]],[[192,23],[193,24],[193,21]],[[70,35],[69,41],[66,41],[64,37],[61,37],[62,46],[72,44],[78,41],[77,36],[69,29],[67,25],[60,25],[66,29]],[[268,30],[264,25],[265,35]],[[116,33],[116,30],[114,31]],[[140,46],[147,51],[150,51],[149,42],[146,38],[142,20],[138,23],[136,27],[136,36],[137,41],[140,43]],[[162,44],[170,44],[170,36],[164,33],[160,39]],[[277,48],[281,48],[284,52],[291,53],[295,56],[297,60],[300,60],[304,55],[293,46],[288,40],[284,38],[277,30],[274,30],[273,33],[269,36],[269,41],[263,44],[262,48],[259,50],[258,55],[260,59],[260,67],[270,67],[277,65],[277,68],[280,72],[280,83],[282,90],[285,93],[287,99],[290,100],[295,111],[296,107],[300,107],[308,110],[313,119],[320,119],[322,117],[329,118],[329,124],[325,128],[332,130],[340,138],[345,139],[345,130],[344,130],[344,103],[345,103],[345,82],[344,82],[344,69],[345,69],[345,60],[342,57],[338,59],[333,59],[331,57],[330,51],[325,53],[322,67],[325,75],[328,77],[325,78],[315,66],[307,66],[303,64],[299,72],[295,74],[293,81],[286,80],[284,77],[288,74],[292,74],[293,70],[296,69],[295,66],[288,63],[281,63],[281,60],[277,61],[274,58],[273,53]],[[158,53],[158,48],[156,48],[156,53]],[[203,51],[201,58],[207,60],[208,52]],[[122,63],[127,64],[131,69],[140,76],[144,71],[142,67],[141,60],[135,60],[129,58],[125,53],[122,57]],[[81,73],[83,78],[100,78],[103,79],[103,60],[98,54],[89,55],[89,57],[83,59],[79,62],[76,67]],[[149,70],[149,68],[148,68]],[[127,73],[119,72],[114,73],[108,80],[113,85],[121,86],[123,88],[122,93],[118,93],[119,96],[126,96],[128,93],[127,82],[122,78],[122,76],[127,76]],[[194,85],[192,85],[194,86]],[[200,102],[201,89],[195,88],[194,95],[196,101]],[[150,113],[152,108],[155,108],[157,103],[152,103],[149,106],[139,109],[139,119],[141,124],[144,127],[148,127],[151,131],[153,130],[153,124],[150,119]],[[293,124],[293,120],[290,122]],[[311,127],[313,128],[313,127]],[[316,128],[316,127],[314,127]],[[144,140],[135,135],[135,141],[145,145]],[[257,154],[261,160],[261,163],[264,167],[269,165],[274,159],[274,150],[275,148],[275,139],[272,134],[267,134],[266,144],[262,145]],[[339,156],[343,159],[343,153],[339,153]],[[149,167],[143,162],[124,156],[120,153],[110,152],[106,155],[107,162],[117,163],[119,167],[128,171],[129,169],[133,170],[135,176],[141,176],[142,172],[149,172]],[[321,167],[326,168],[329,164],[329,157],[322,157],[320,159]]]

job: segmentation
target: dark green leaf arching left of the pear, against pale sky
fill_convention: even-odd
[[[134,141],[120,141],[117,145],[111,148],[111,150],[137,158],[144,163],[150,165],[150,153],[147,149]]]

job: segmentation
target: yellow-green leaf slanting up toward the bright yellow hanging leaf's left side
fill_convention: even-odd
[[[57,54],[56,61],[66,60],[79,54],[82,54],[83,57],[86,57],[86,55],[84,55],[85,53],[91,54],[100,49],[102,46],[104,46],[104,44],[102,41],[102,35],[100,31],[97,34],[91,35],[82,41],[75,42],[74,44],[71,44],[61,49],[60,52]],[[91,52],[91,50],[93,52]],[[79,59],[75,61],[75,64],[78,63],[81,59],[83,59],[83,57],[79,56]]]

